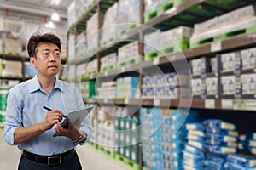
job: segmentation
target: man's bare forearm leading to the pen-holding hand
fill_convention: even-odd
[[[15,144],[25,143],[37,137],[39,134],[44,133],[45,130],[43,123],[34,124],[30,127],[18,127],[14,133]]]

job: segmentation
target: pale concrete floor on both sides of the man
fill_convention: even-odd
[[[131,167],[96,150],[90,144],[78,146],[77,150],[83,170],[131,170]],[[20,150],[4,142],[3,129],[0,129],[0,169],[15,170],[19,160]]]

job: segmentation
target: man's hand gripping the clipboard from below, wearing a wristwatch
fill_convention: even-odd
[[[57,122],[57,126],[55,128],[55,135],[56,136],[66,136],[72,140],[77,139],[80,135],[79,130],[73,126],[73,123],[68,120],[67,121],[67,128],[61,127],[61,123]]]

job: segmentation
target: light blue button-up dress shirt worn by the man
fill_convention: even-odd
[[[35,76],[9,90],[3,123],[5,141],[15,145],[14,132],[17,127],[29,127],[43,122],[47,114],[43,109],[44,105],[57,109],[64,115],[84,108],[79,90],[73,85],[56,78],[55,87],[47,94]],[[38,155],[55,155],[73,149],[76,144],[71,139],[65,136],[53,137],[55,126],[26,143],[18,144],[18,148]],[[88,118],[81,123],[80,130],[88,134],[87,140],[90,139],[91,125]]]

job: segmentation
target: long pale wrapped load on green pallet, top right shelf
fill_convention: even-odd
[[[255,8],[253,5],[236,9],[205,22],[195,24],[194,34],[190,38],[190,47],[223,40],[255,30]]]

